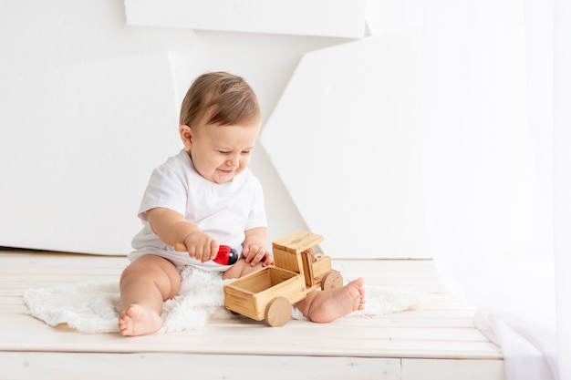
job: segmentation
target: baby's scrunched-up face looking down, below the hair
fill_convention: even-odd
[[[260,120],[232,126],[192,128],[190,152],[194,168],[206,180],[226,183],[250,163]]]

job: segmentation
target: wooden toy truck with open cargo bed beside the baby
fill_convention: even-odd
[[[292,304],[321,287],[343,285],[340,272],[331,269],[331,259],[315,253],[323,237],[295,231],[272,243],[275,265],[267,266],[224,285],[224,305],[234,313],[256,321],[265,319],[272,327],[289,321]]]

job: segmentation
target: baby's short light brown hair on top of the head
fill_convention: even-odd
[[[181,125],[234,125],[260,112],[254,90],[244,78],[222,71],[206,73],[194,80],[182,100]]]

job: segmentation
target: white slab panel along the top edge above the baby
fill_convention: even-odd
[[[131,26],[365,36],[364,0],[125,0]]]

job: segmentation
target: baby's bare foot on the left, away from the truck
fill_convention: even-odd
[[[140,304],[130,305],[119,315],[119,332],[124,336],[152,334],[161,327],[161,316]]]

